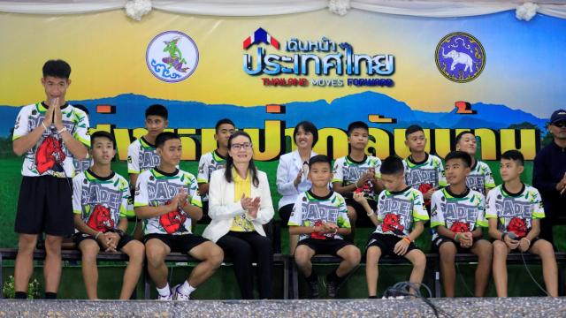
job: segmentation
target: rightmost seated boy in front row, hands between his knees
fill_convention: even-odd
[[[513,251],[538,254],[549,296],[558,296],[558,269],[552,244],[539,239],[545,217],[537,189],[521,182],[524,157],[517,150],[501,155],[504,184],[487,194],[486,218],[493,241],[493,281],[498,297],[507,297],[507,255]]]

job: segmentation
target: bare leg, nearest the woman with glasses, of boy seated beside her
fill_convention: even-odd
[[[191,248],[188,254],[201,261],[187,278],[188,284],[194,288],[209,279],[224,261],[222,248],[208,240]]]

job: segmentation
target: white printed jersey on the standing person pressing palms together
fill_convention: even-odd
[[[22,107],[14,125],[12,140],[17,140],[31,133],[37,126],[42,125],[47,110],[47,106],[42,102]],[[63,125],[65,125],[67,131],[73,135],[74,139],[79,140],[86,147],[90,147],[87,114],[70,104],[61,106],[61,113]],[[73,154],[66,148],[65,142],[57,133],[55,124],[51,124],[47,128],[35,146],[27,150],[21,168],[22,176],[51,175],[57,178],[73,178]]]

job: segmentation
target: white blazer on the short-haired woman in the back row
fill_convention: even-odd
[[[314,151],[310,151],[310,157],[317,155]],[[301,182],[297,187],[294,187],[294,178],[297,177],[299,171],[302,169],[301,155],[298,150],[294,150],[279,157],[279,165],[277,166],[277,191],[281,194],[279,200],[279,208],[287,204],[294,204],[299,193],[310,190],[312,184],[306,173],[302,175]]]

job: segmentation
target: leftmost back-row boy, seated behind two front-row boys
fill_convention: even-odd
[[[169,114],[165,106],[159,104],[149,106],[145,110],[145,129],[148,133],[132,142],[127,148],[127,173],[130,176],[132,191],[131,207],[128,210],[134,209],[134,186],[140,173],[159,165],[159,155],[157,155],[155,143],[157,135],[163,133],[164,129],[169,125],[168,116]],[[142,239],[142,233],[142,223],[138,219],[135,224],[134,238]]]

